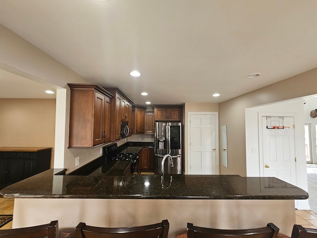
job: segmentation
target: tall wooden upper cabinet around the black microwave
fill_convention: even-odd
[[[105,88],[114,97],[110,100],[110,134],[111,141],[116,141],[121,138],[120,129],[121,121],[128,121],[129,128],[131,127],[131,114],[132,114],[132,105],[133,102],[129,99],[124,93],[121,92],[119,88]],[[133,128],[133,126],[132,126]],[[130,128],[131,129],[131,128]],[[129,132],[128,136],[131,136],[132,132]]]

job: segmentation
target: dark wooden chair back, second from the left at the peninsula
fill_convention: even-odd
[[[103,228],[79,223],[75,228],[76,238],[167,238],[169,223],[160,223],[128,228]]]

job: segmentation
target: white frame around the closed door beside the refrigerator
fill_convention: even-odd
[[[189,173],[189,166],[190,166],[190,155],[191,155],[191,149],[190,149],[190,142],[191,142],[191,133],[190,133],[190,118],[192,115],[214,115],[215,116],[215,148],[216,148],[216,174],[219,174],[219,132],[218,132],[218,112],[188,112],[187,113],[187,131],[188,131],[188,137],[187,137],[187,163],[185,168],[185,173]]]

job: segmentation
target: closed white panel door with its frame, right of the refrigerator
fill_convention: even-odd
[[[218,174],[217,114],[190,114],[189,119],[188,174]]]

